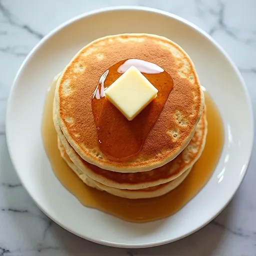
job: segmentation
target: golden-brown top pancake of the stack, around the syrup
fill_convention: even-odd
[[[91,98],[104,71],[127,58],[162,67],[171,75],[173,89],[141,150],[131,159],[114,161],[98,147]],[[152,34],[111,35],[83,47],[58,79],[55,101],[58,124],[71,147],[85,161],[118,172],[149,171],[175,158],[193,136],[204,105],[189,56],[171,40]]]

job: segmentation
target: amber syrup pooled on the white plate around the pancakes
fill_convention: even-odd
[[[56,177],[84,206],[128,221],[142,222],[160,219],[183,207],[211,177],[221,154],[224,132],[220,114],[207,92],[204,94],[208,121],[206,144],[202,155],[185,180],[174,190],[160,197],[125,199],[86,186],[61,158],[57,148],[57,134],[52,121],[54,89],[55,84],[51,86],[47,94],[42,119],[42,138],[45,151]]]

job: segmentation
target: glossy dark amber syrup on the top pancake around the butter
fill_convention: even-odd
[[[124,115],[105,97],[104,90],[130,66],[135,66],[158,90],[154,98],[133,120]],[[171,76],[160,66],[141,59],[125,59],[110,66],[100,77],[91,107],[98,136],[98,146],[114,160],[126,160],[141,149],[172,89]]]

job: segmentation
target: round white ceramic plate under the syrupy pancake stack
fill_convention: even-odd
[[[53,76],[88,42],[125,32],[163,35],[183,47],[195,64],[201,84],[216,102],[225,130],[221,158],[205,187],[176,214],[147,223],[126,222],[82,206],[54,176],[41,138],[43,104]],[[75,17],[35,46],[12,86],[6,135],[9,153],[23,186],[56,223],[94,242],[117,247],[147,247],[191,234],[226,206],[241,183],[250,158],[252,120],[241,75],[210,36],[164,11],[117,7]]]

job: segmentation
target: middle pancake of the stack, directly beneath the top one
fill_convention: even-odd
[[[195,163],[200,157],[205,145],[207,134],[206,106],[204,107],[192,139],[185,149],[172,161],[153,170],[136,173],[123,173],[101,169],[96,165],[84,161],[68,143],[58,126],[54,106],[55,103],[53,102],[54,126],[71,161],[86,174],[86,176],[110,187],[142,189],[171,181],[180,176]]]

